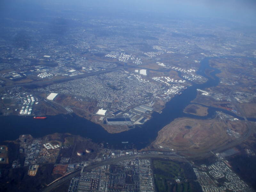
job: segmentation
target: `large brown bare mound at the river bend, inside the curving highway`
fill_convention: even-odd
[[[203,153],[214,150],[234,140],[227,134],[227,128],[243,134],[247,129],[243,121],[220,121],[178,118],[158,132],[151,147],[174,149],[181,153]]]

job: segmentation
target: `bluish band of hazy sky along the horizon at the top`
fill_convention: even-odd
[[[56,17],[61,11],[83,12],[87,9],[88,14],[126,17],[127,19],[146,17],[196,17],[196,18],[217,18],[230,21],[237,21],[248,26],[255,26],[256,1],[254,0],[3,0],[0,2],[0,18],[27,19],[47,17],[55,12]],[[69,13],[70,14],[70,13]],[[135,16],[136,15],[136,16]],[[62,14],[63,16],[63,14]]]

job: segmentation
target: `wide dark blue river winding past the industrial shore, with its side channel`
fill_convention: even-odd
[[[108,143],[111,148],[131,148],[137,149],[145,148],[157,137],[165,125],[171,123],[175,118],[191,117],[198,119],[211,119],[215,116],[215,112],[223,111],[229,115],[243,120],[235,114],[219,109],[210,107],[207,116],[195,116],[183,113],[183,109],[196,98],[196,89],[204,90],[207,87],[214,87],[219,84],[219,78],[215,75],[220,73],[220,70],[209,66],[209,59],[205,58],[201,61],[201,66],[197,71],[198,75],[206,77],[208,80],[204,84],[194,84],[188,87],[169,102],[166,103],[162,113],[154,112],[152,118],[145,124],[136,126],[136,128],[129,131],[110,134],[98,124],[92,123],[84,118],[78,117],[75,114],[71,115],[57,115],[47,116],[45,120],[33,119],[31,117],[22,116],[0,116],[1,134],[0,141],[16,140],[21,134],[31,134],[33,137],[42,137],[55,132],[58,133],[71,133],[81,135],[86,138],[92,139],[94,142]],[[205,75],[205,70],[211,70],[211,77]],[[250,120],[250,119],[248,119]],[[255,121],[255,119],[251,119]],[[122,144],[122,141],[129,143]]]

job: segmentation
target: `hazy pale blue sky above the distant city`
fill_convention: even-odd
[[[16,7],[14,9],[14,7]],[[95,12],[148,12],[176,16],[216,17],[255,25],[256,0],[1,0],[2,16],[20,11],[40,14],[45,10],[94,9]],[[39,12],[38,12],[39,11]],[[40,12],[41,11],[41,12]],[[26,13],[28,14],[28,13]],[[33,17],[33,15],[31,15]]]

